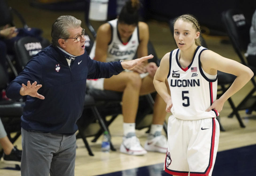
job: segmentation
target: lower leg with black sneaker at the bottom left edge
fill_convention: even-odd
[[[21,162],[21,150],[18,150],[16,146],[14,146],[9,138],[7,137],[7,133],[5,128],[3,127],[3,123],[0,119],[0,144],[3,148],[3,161],[9,164],[20,164]]]

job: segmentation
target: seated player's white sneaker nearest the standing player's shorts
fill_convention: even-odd
[[[167,152],[167,139],[161,132],[157,131],[154,135],[149,134],[148,139],[145,142],[144,148],[154,152]]]

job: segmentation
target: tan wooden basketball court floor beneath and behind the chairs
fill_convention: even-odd
[[[25,18],[28,26],[37,27],[43,30],[43,36],[51,40],[50,30],[51,25],[54,20],[60,15],[73,15],[78,19],[82,20],[82,27],[85,27],[84,24],[84,13],[83,12],[53,12],[47,10],[39,10],[34,7],[29,6],[29,1],[15,1],[9,0],[9,5],[16,10],[18,10],[23,17]],[[21,24],[15,19],[17,27],[21,27]],[[99,27],[103,22],[91,22],[95,29]],[[153,43],[157,56],[162,58],[165,53],[170,52],[176,48],[172,34],[168,27],[167,23],[150,21],[148,22],[150,40]],[[87,28],[86,28],[87,30]],[[87,30],[88,31],[88,30]],[[89,32],[88,32],[89,33]],[[239,61],[238,56],[236,55],[231,44],[223,44],[220,41],[226,40],[227,37],[223,36],[209,36],[204,34],[206,39],[208,49],[219,53],[220,55],[231,58]],[[246,96],[246,94],[252,89],[251,82],[247,83],[240,91],[232,96],[235,105],[237,105],[241,100]],[[247,115],[245,111],[239,111],[246,128],[241,128],[235,116],[233,118],[228,118],[227,116],[231,112],[231,107],[228,102],[224,104],[223,110],[220,112],[220,121],[223,127],[226,129],[225,132],[220,132],[220,142],[218,152],[221,151],[230,151],[230,149],[241,149],[244,146],[250,146],[256,144],[256,112],[254,111],[251,115]],[[168,119],[167,114],[166,119]],[[123,118],[122,115],[119,115],[116,120],[110,125],[109,129],[112,134],[112,143],[117,151],[111,151],[109,153],[103,153],[100,150],[101,137],[96,143],[92,143],[92,137],[88,138],[89,144],[93,150],[94,156],[89,156],[88,152],[84,146],[84,143],[81,139],[77,139],[77,155],[76,155],[76,166],[75,166],[75,175],[84,176],[84,175],[163,175],[161,174],[161,165],[163,165],[165,154],[148,152],[144,156],[130,156],[123,153],[120,153],[119,147],[122,141],[123,135]],[[142,129],[136,131],[137,137],[139,137],[140,142],[144,145],[147,138],[145,133],[147,129]],[[164,132],[163,132],[164,134]],[[21,137],[15,142],[15,145],[21,149]],[[250,151],[255,153],[254,151]],[[221,153],[220,153],[221,154]],[[253,155],[252,155],[253,156]],[[254,155],[255,156],[255,155]],[[218,154],[217,154],[218,157]],[[230,156],[232,158],[232,156]],[[230,158],[227,158],[229,160]],[[253,158],[255,161],[255,158]],[[231,161],[232,162],[232,161]],[[244,161],[246,164],[246,160]],[[225,171],[225,160],[221,169]],[[143,166],[148,166],[148,169],[153,169],[154,172],[143,172],[139,173],[140,168]],[[158,167],[154,167],[158,166]],[[250,175],[256,175],[256,164],[254,164],[254,170]],[[1,176],[19,176],[20,171],[14,169],[14,165],[6,165],[3,162],[0,162],[0,175]],[[159,170],[160,167],[160,170]],[[156,169],[158,168],[158,170]],[[231,168],[232,169],[232,168]],[[233,169],[237,169],[234,166]],[[242,168],[243,169],[243,168]],[[117,172],[120,171],[120,172]],[[117,172],[117,173],[114,173]],[[109,174],[108,174],[109,173]],[[243,171],[241,171],[243,173]],[[244,172],[246,173],[246,172]],[[243,174],[241,174],[242,176]],[[217,176],[217,175],[214,175]],[[220,175],[218,175],[220,176]],[[232,175],[230,175],[232,176]]]

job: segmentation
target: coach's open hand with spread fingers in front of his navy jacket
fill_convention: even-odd
[[[37,85],[36,81],[33,82],[32,84],[30,84],[30,81],[27,81],[27,86],[22,83],[22,87],[19,91],[19,94],[21,94],[22,96],[29,95],[31,97],[44,99],[45,97],[43,95],[40,95],[37,93],[38,89],[40,89],[41,87],[42,85],[41,84]]]

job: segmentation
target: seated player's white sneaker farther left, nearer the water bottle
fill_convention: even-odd
[[[130,155],[144,155],[147,153],[147,151],[140,145],[140,141],[135,133],[128,133],[127,136],[123,137],[120,152]]]

